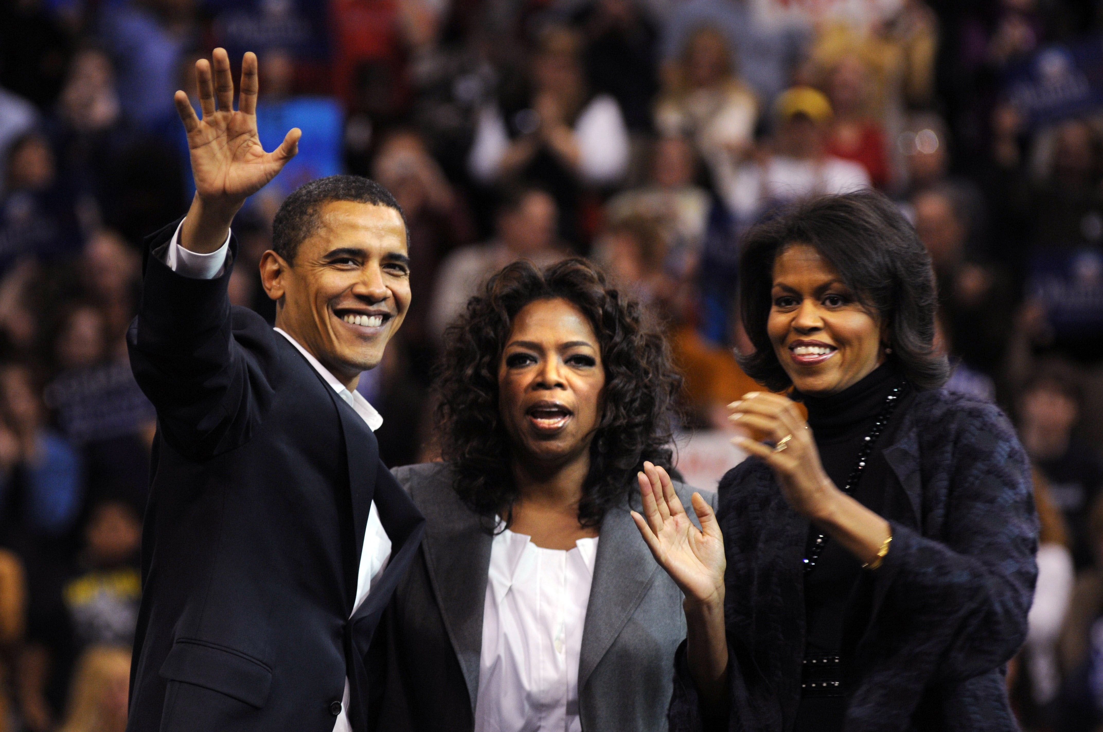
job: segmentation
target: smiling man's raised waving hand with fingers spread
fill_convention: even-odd
[[[298,152],[298,128],[290,130],[272,152],[265,152],[257,134],[257,57],[246,53],[242,61],[242,92],[234,110],[234,79],[229,56],[215,49],[211,63],[195,63],[200,107],[195,116],[188,95],[176,92],[173,101],[188,132],[195,191],[201,198],[239,205],[264,187]],[[215,107],[217,101],[217,108]]]

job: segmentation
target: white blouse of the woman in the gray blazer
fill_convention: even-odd
[[[580,732],[578,659],[598,539],[542,549],[494,537],[474,732]]]

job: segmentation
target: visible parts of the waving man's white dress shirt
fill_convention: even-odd
[[[180,223],[183,226],[183,222]],[[169,250],[165,254],[165,263],[174,272],[179,272],[184,277],[193,277],[195,279],[210,280],[222,274],[223,269],[226,266],[226,255],[229,252],[229,235],[226,236],[226,240],[223,245],[212,251],[211,254],[197,254],[195,251],[190,251],[180,246],[180,226],[176,227],[176,233],[172,235],[172,241],[169,243]],[[350,407],[353,408],[361,419],[367,423],[368,429],[373,432],[383,424],[383,417],[376,411],[375,407],[368,403],[367,399],[363,397],[360,392],[350,391],[345,385],[338,380],[333,374],[329,372],[328,368],[322,366],[322,364],[314,358],[310,352],[302,347],[298,341],[291,337],[288,333],[280,329],[275,329],[277,333],[282,335],[285,338],[291,342],[299,353],[306,357],[314,370],[325,379],[334,391],[344,399]],[[387,566],[387,560],[390,558],[390,539],[387,537],[387,532],[383,530],[383,523],[379,520],[379,512],[375,507],[375,502],[372,502],[372,509],[367,515],[367,528],[364,531],[364,548],[360,553],[360,571],[356,575],[356,602],[353,604],[353,614],[360,609],[361,603],[367,598],[368,592],[375,584],[375,580],[378,579],[379,574],[383,573],[384,568]],[[345,679],[344,698],[341,701],[341,713],[338,714],[338,721],[333,725],[333,732],[352,732],[352,725],[349,723],[349,700],[350,700],[350,689],[349,679]]]

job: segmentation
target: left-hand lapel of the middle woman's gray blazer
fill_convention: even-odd
[[[436,480],[414,489],[413,497],[427,519],[422,547],[429,581],[463,671],[473,713],[479,696],[483,606],[493,540],[479,516],[456,496],[451,475],[451,471],[441,470]]]

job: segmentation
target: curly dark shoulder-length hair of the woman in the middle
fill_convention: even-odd
[[[529,261],[514,262],[494,274],[448,327],[436,374],[438,438],[454,471],[456,493],[484,518],[502,516],[506,526],[518,489],[499,413],[499,362],[517,313],[531,302],[556,298],[589,319],[606,369],[579,524],[597,526],[609,508],[621,505],[643,461],[671,466],[682,377],[666,340],[645,322],[639,303],[611,288],[585,259],[566,259],[543,271]]]

